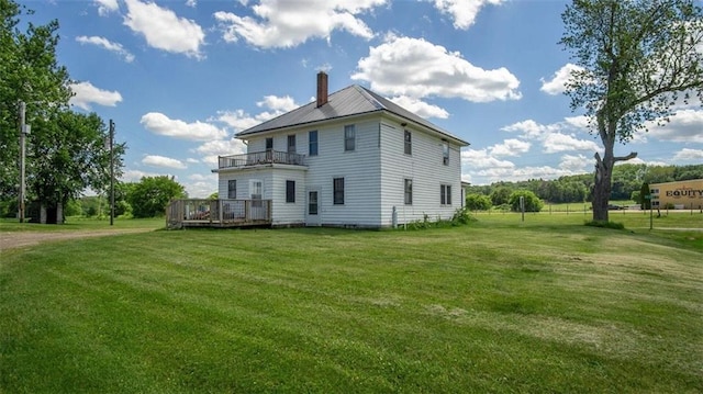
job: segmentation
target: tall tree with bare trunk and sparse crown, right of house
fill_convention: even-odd
[[[616,156],[651,123],[663,124],[691,95],[703,95],[703,12],[693,0],[573,0],[560,44],[580,70],[567,83],[603,143],[595,154],[593,219],[607,221]]]

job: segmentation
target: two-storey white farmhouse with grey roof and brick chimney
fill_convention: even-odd
[[[381,228],[462,206],[467,142],[360,86],[328,94],[324,72],[316,102],[236,137],[247,153],[221,156],[213,170],[221,216],[259,210],[272,226]]]

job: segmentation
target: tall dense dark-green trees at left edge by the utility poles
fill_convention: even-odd
[[[44,205],[66,204],[86,189],[103,192],[110,153],[104,123],[94,113],[70,111],[70,79],[56,58],[58,22],[20,26],[31,14],[12,0],[0,0],[0,200],[18,198],[20,185],[20,102],[26,103],[26,192]],[[124,145],[114,151],[115,177]],[[16,200],[15,200],[16,201]]]

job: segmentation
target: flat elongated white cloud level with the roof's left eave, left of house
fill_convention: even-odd
[[[227,135],[225,130],[212,124],[202,122],[186,123],[179,120],[171,120],[158,112],[145,114],[140,123],[154,134],[188,140],[221,139]]]

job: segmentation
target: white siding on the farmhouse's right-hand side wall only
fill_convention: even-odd
[[[404,131],[412,134],[412,155],[404,153]],[[398,223],[410,223],[451,218],[461,207],[461,155],[460,147],[449,143],[449,164],[443,162],[442,138],[419,131],[412,125],[406,127],[392,122],[381,124],[381,223],[392,225],[392,212],[395,206]],[[413,180],[412,205],[404,203],[404,179]],[[440,185],[451,185],[451,205],[442,205]]]

